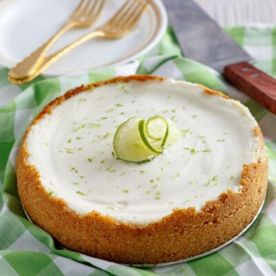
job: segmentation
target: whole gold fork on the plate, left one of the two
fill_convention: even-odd
[[[91,27],[97,21],[105,1],[106,0],[81,0],[79,6],[72,12],[61,29],[59,29],[46,43],[32,52],[32,54],[11,68],[8,73],[9,77],[12,79],[23,79],[33,75],[35,70],[43,63],[43,57],[46,55],[46,52],[62,34],[72,28]]]

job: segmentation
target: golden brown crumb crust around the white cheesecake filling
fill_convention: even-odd
[[[164,78],[135,75],[81,86],[49,103],[32,124],[37,124],[65,99],[84,90],[132,80],[163,81]],[[207,94],[223,95],[208,88],[204,90]],[[21,204],[32,221],[60,244],[93,257],[125,264],[157,264],[204,253],[240,233],[253,220],[266,195],[268,160],[262,132],[256,127],[255,135],[260,139],[259,160],[244,165],[240,181],[242,193],[228,190],[217,201],[207,202],[200,212],[194,208],[174,210],[161,221],[146,226],[124,224],[97,212],[77,215],[62,199],[48,196],[41,185],[39,172],[28,164],[26,137],[30,127],[17,156]]]

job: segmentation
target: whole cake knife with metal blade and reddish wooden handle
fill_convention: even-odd
[[[163,2],[184,56],[218,70],[276,115],[276,79],[250,64],[253,58],[193,0]]]

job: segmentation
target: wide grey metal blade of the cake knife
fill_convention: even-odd
[[[253,61],[193,0],[163,0],[184,56],[220,72],[229,64]]]

